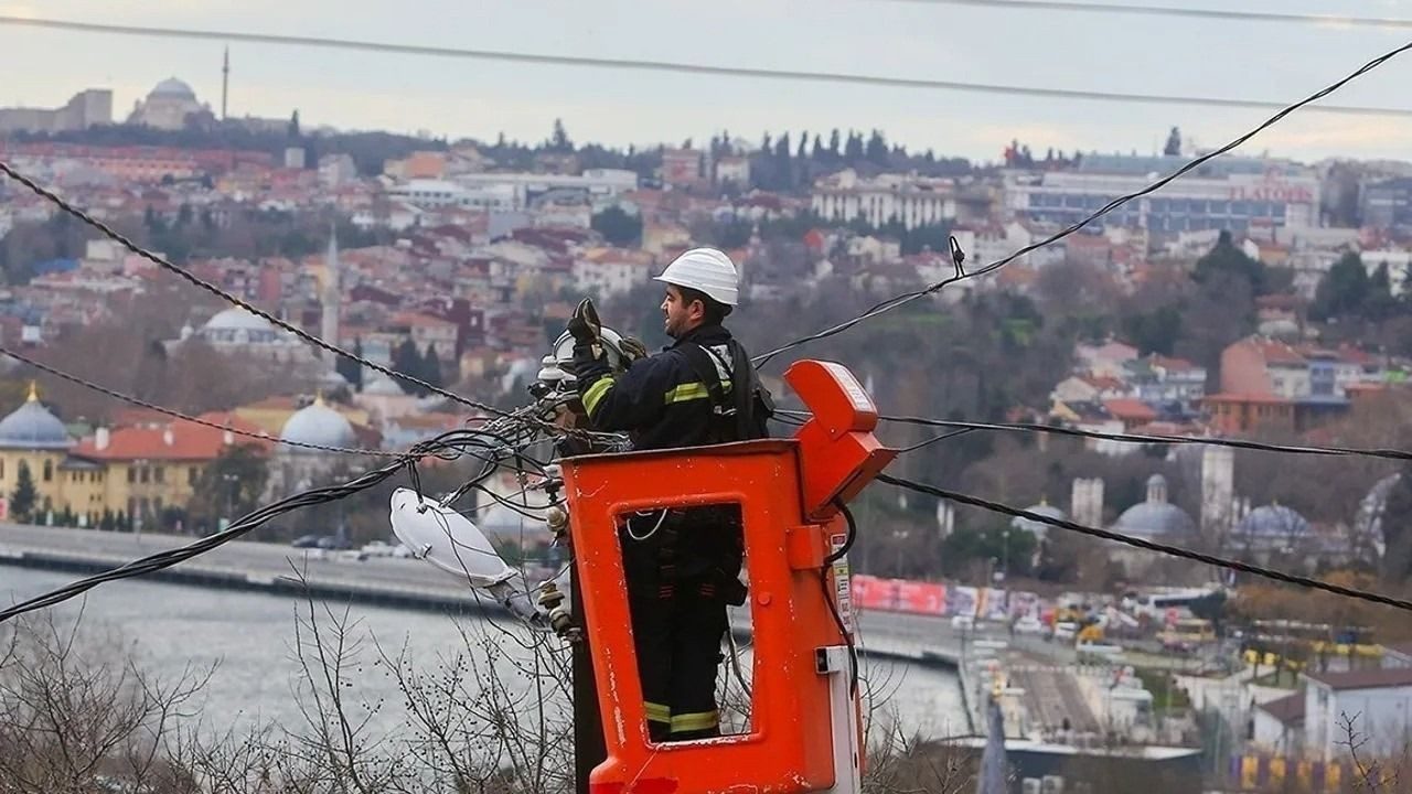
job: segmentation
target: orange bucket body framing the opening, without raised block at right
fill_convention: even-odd
[[[607,740],[607,760],[592,776],[596,794],[707,794],[743,784],[803,793],[833,784],[827,678],[815,670],[815,650],[844,637],[820,569],[791,565],[791,530],[806,523],[798,454],[795,441],[767,439],[562,462]],[[616,520],[630,510],[719,503],[738,503],[744,524],[755,632],[750,732],[654,745]]]

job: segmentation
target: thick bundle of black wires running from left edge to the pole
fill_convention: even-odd
[[[552,407],[551,407],[552,410]],[[319,486],[309,490],[304,490],[265,504],[247,516],[232,523],[227,528],[203,537],[191,544],[171,548],[167,551],[160,551],[141,559],[134,559],[110,571],[102,574],[95,574],[93,576],[86,576],[78,579],[69,585],[51,591],[48,593],[31,598],[28,600],[16,603],[4,610],[0,610],[0,623],[18,617],[27,612],[34,612],[37,609],[44,609],[54,606],[64,600],[72,599],[82,595],[104,582],[113,582],[117,579],[127,579],[131,576],[141,576],[164,568],[169,568],[179,562],[185,562],[201,554],[206,554],[222,544],[236,540],[246,533],[265,524],[267,521],[282,516],[285,513],[298,510],[301,507],[309,507],[313,504],[325,504],[329,502],[336,502],[345,499],[361,490],[367,490],[378,483],[383,483],[407,469],[408,476],[412,480],[412,487],[421,493],[421,482],[417,472],[417,462],[424,458],[439,458],[443,461],[456,461],[463,456],[477,458],[483,462],[479,472],[472,476],[467,485],[462,486],[456,493],[465,493],[472,487],[483,487],[480,482],[489,478],[505,458],[514,458],[518,466],[524,466],[527,462],[532,462],[537,468],[542,470],[542,465],[538,463],[528,449],[537,444],[544,442],[548,437],[541,432],[544,424],[535,422],[534,420],[542,415],[545,405],[537,404],[521,408],[518,411],[504,414],[497,420],[487,422],[483,427],[463,428],[443,432],[435,438],[421,441],[411,446],[398,459],[366,472],[352,480]],[[522,470],[522,469],[521,469]],[[450,502],[450,500],[448,500]]]

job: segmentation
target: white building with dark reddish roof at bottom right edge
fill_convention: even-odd
[[[1348,726],[1364,757],[1398,757],[1412,739],[1412,668],[1305,674],[1305,753],[1348,754]]]

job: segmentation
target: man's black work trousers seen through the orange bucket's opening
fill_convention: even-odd
[[[633,516],[620,531],[648,735],[654,742],[720,736],[716,670],[726,605],[744,598],[740,509],[669,510],[658,524],[659,516]]]

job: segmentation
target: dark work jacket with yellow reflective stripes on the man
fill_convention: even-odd
[[[633,362],[614,376],[604,360],[594,360],[585,346],[573,349],[579,397],[593,429],[627,432],[634,449],[700,446],[713,442],[720,420],[706,384],[682,352],[696,343],[714,349],[724,360],[722,387],[730,396],[730,332],[720,325],[702,325],[665,350]],[[712,359],[714,363],[716,359]],[[719,432],[719,431],[717,431]],[[727,441],[733,441],[729,439]]]

